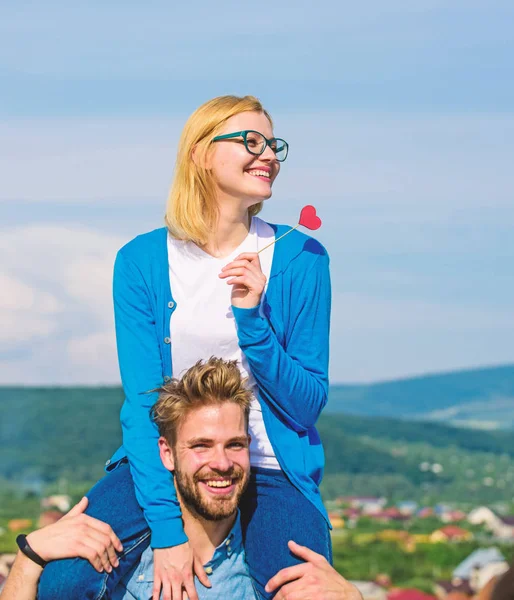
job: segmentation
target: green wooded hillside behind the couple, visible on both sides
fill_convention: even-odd
[[[120,388],[0,388],[0,478],[31,487],[93,482],[121,442]],[[326,498],[514,497],[514,433],[325,414]],[[434,467],[434,465],[436,465]]]

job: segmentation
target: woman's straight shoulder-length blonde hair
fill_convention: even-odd
[[[213,98],[187,120],[180,136],[164,221],[171,235],[179,240],[204,245],[218,222],[216,186],[212,172],[205,168],[212,152],[212,139],[219,135],[225,122],[242,112],[261,112],[273,121],[254,96],[219,96]],[[193,159],[194,152],[194,159]],[[256,215],[262,202],[248,209]]]

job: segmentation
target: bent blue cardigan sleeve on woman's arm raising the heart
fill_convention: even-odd
[[[328,398],[331,287],[319,254],[292,277],[289,332],[282,347],[260,307],[232,307],[243,350],[261,395],[296,431],[312,427]]]

